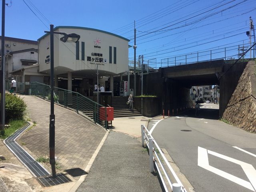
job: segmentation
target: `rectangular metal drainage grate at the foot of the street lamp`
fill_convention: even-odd
[[[43,187],[50,187],[54,185],[59,185],[62,183],[70,182],[70,178],[62,173],[58,173],[55,176],[49,175],[45,177],[36,178],[36,180],[43,186]]]

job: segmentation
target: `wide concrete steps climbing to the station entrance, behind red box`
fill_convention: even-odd
[[[112,106],[114,107],[114,118],[116,117],[132,117],[132,116],[141,116],[142,114],[133,108],[130,110],[130,105],[126,104],[126,98],[124,97],[112,97]]]

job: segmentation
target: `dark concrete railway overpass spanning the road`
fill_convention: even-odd
[[[224,60],[212,60],[159,68],[156,72],[143,74],[143,94],[158,97],[159,113],[163,110],[179,112],[180,109],[191,106],[190,88],[192,86],[218,85],[220,87],[219,116],[221,117],[248,63],[234,64],[234,62],[227,64]],[[127,76],[122,76],[122,80],[127,79]],[[133,79],[130,77],[130,88],[133,88]],[[115,80],[120,81],[118,78]],[[137,72],[137,95],[141,93],[141,80],[142,76]]]

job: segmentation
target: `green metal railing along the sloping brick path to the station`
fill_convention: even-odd
[[[32,82],[31,95],[50,100],[51,86]],[[106,107],[88,99],[78,92],[54,87],[54,102],[66,108],[76,110],[77,113],[82,113],[92,119],[94,123],[107,128]]]

